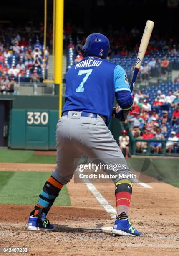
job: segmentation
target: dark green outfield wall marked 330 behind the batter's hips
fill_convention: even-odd
[[[58,96],[11,96],[8,147],[13,149],[54,150],[58,122]],[[63,98],[64,103],[64,98]],[[118,142],[121,126],[111,119],[109,129]]]

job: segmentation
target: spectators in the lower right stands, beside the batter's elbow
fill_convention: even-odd
[[[131,124],[131,133],[134,138],[151,140],[149,143],[151,153],[162,153],[162,147],[164,147],[162,140],[167,141],[166,152],[179,152],[179,84],[170,84],[170,86],[173,90],[169,90],[168,95],[157,90],[153,101],[147,89],[145,92],[134,90],[134,106],[125,121]],[[157,142],[157,140],[160,141]],[[146,153],[146,151],[147,142],[137,141],[136,152]]]

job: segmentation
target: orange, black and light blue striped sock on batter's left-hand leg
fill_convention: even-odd
[[[54,177],[50,176],[50,178],[48,178],[48,180],[45,182],[45,185],[39,195],[37,206],[39,208],[47,209],[48,212],[50,207],[53,205],[55,198],[58,197],[62,187],[63,184],[58,182]],[[35,210],[34,215],[38,215],[38,210]]]

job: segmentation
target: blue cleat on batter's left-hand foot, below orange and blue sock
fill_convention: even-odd
[[[45,217],[45,216],[44,216]],[[46,218],[40,218],[35,216],[30,216],[28,220],[28,230],[30,231],[52,231],[54,226],[50,224],[50,221]]]

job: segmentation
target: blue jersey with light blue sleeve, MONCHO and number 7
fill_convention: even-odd
[[[63,112],[78,110],[103,115],[108,124],[115,92],[120,91],[131,92],[124,69],[105,59],[88,56],[66,74]]]

